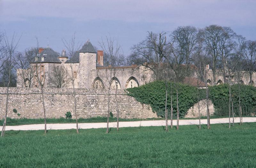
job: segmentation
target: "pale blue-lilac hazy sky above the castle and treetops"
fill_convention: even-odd
[[[115,37],[124,55],[146,38],[147,32],[170,34],[178,26],[231,27],[248,40],[256,40],[256,1],[171,0],[0,0],[0,31],[15,32],[18,51],[48,45],[56,52],[76,32],[76,41],[99,42]]]

